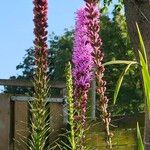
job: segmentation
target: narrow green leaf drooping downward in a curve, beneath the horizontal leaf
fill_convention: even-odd
[[[125,76],[125,74],[127,73],[127,71],[129,70],[129,68],[130,68],[130,66],[131,66],[132,64],[135,64],[135,63],[133,63],[133,62],[129,63],[129,64],[127,65],[127,67],[123,70],[123,72],[121,73],[121,75],[120,75],[120,77],[119,77],[119,79],[118,79],[118,81],[117,81],[117,84],[116,84],[116,87],[115,87],[115,91],[114,91],[114,100],[113,100],[113,103],[114,103],[114,104],[115,104],[116,101],[117,101],[118,93],[119,93],[119,90],[120,90],[122,81],[123,81],[123,79],[124,79],[124,76]]]

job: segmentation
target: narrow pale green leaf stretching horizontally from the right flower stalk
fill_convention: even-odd
[[[114,60],[114,61],[109,61],[109,62],[106,62],[104,63],[103,65],[106,66],[106,65],[116,65],[116,64],[137,64],[136,61],[127,61],[127,60]]]

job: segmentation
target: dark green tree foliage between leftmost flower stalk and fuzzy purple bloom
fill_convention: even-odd
[[[52,69],[52,79],[55,81],[65,81],[65,66],[71,61],[73,30],[65,30],[63,36],[50,35],[50,53],[49,57]]]

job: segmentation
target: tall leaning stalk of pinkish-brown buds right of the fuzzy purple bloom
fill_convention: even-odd
[[[104,53],[101,51],[102,41],[99,36],[100,31],[100,11],[98,9],[98,0],[84,0],[86,2],[86,18],[89,43],[93,48],[93,57],[95,64],[95,76],[97,80],[97,94],[100,97],[100,108],[102,112],[102,121],[105,127],[106,142],[109,149],[112,149],[112,133],[110,132],[111,114],[108,112],[108,98],[106,96],[106,81],[104,80],[105,68],[102,65]]]

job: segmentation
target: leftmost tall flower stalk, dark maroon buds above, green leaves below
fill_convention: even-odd
[[[47,141],[48,123],[46,117],[47,78],[47,12],[48,0],[33,0],[35,34],[35,77],[34,98],[31,103],[31,140],[30,149],[43,150]]]

